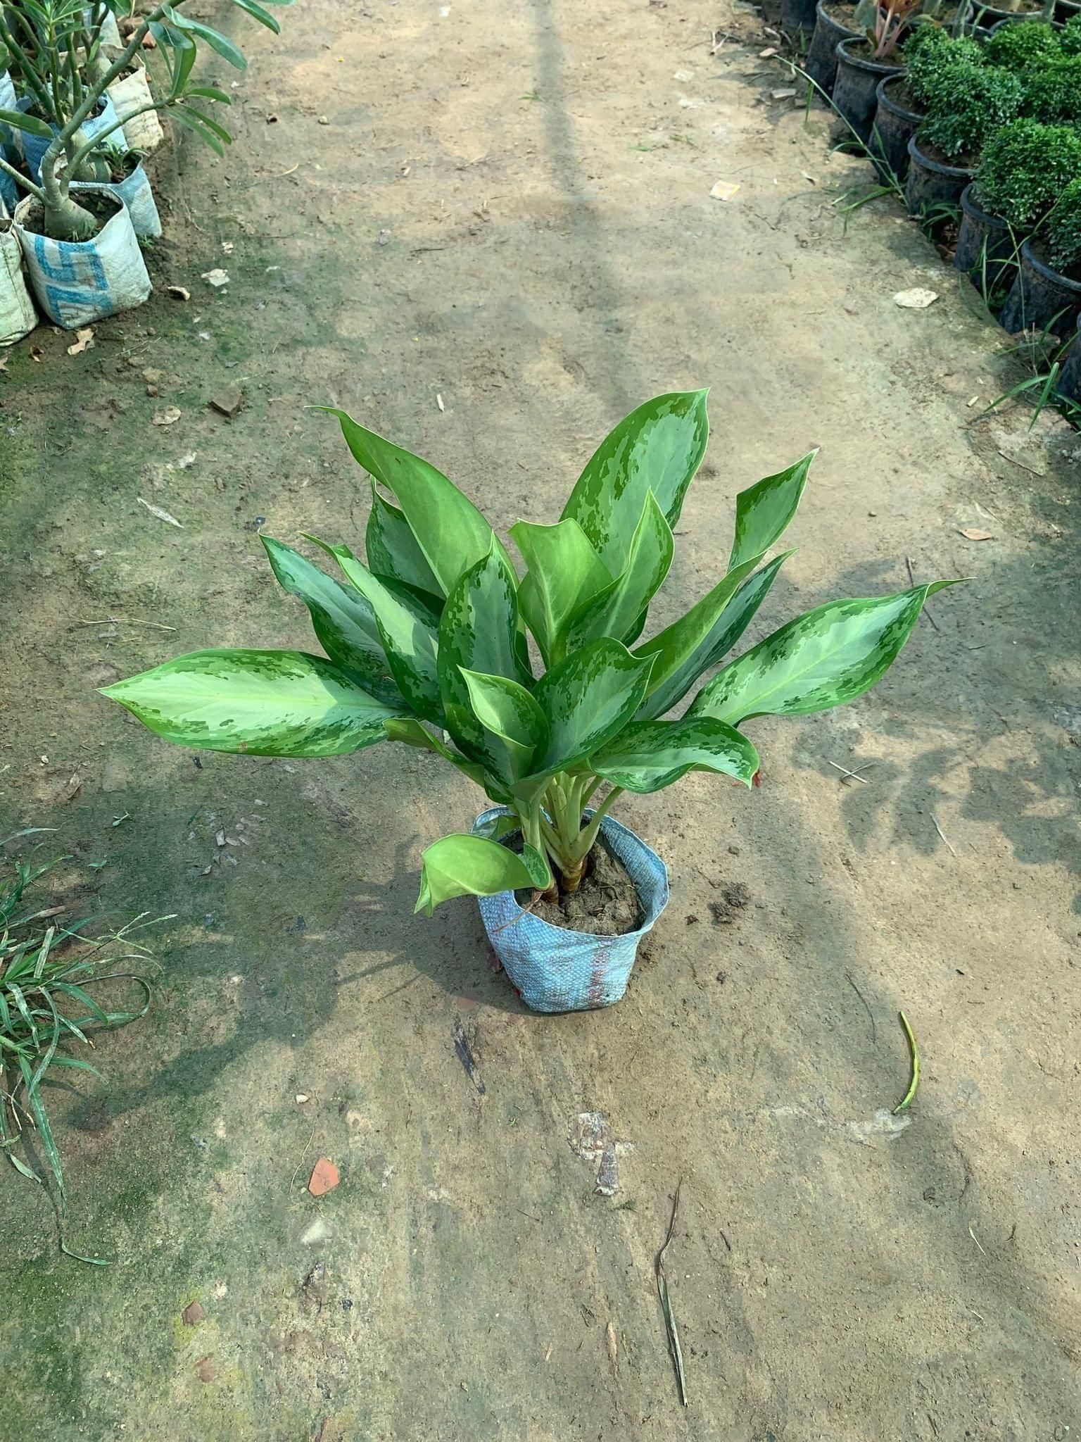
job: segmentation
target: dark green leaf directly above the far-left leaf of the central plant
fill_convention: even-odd
[[[272,536],[259,539],[278,583],[290,596],[298,596],[311,613],[319,643],[334,665],[375,695],[401,701],[386,665],[375,613],[363,596],[334,581],[283,541]]]

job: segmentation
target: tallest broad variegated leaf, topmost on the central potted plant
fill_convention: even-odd
[[[706,391],[657,395],[620,421],[587,461],[564,506],[613,575],[627,565],[651,490],[670,526],[706,448]]]

